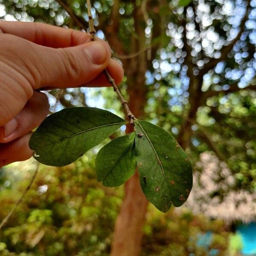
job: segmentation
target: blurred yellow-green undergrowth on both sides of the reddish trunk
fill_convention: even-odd
[[[109,255],[123,192],[122,187],[107,188],[96,181],[94,158],[90,151],[66,167],[40,167],[23,204],[0,231],[1,256]],[[1,170],[0,219],[12,209],[34,169],[29,160]],[[230,234],[221,220],[193,215],[186,208],[163,215],[150,206],[141,255],[224,256],[229,239],[234,240]]]

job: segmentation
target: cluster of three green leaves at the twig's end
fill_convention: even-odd
[[[29,146],[40,163],[66,166],[102,143],[126,121],[99,108],[67,108],[48,116]],[[167,131],[135,120],[135,131],[105,145],[96,157],[97,180],[120,186],[136,171],[148,200],[162,212],[182,205],[192,188],[186,153]]]

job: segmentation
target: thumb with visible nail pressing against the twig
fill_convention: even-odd
[[[86,84],[108,66],[111,58],[111,49],[104,41],[59,49],[39,45],[36,48],[39,59],[34,62],[37,70],[34,89]]]

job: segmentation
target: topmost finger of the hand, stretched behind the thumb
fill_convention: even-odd
[[[0,20],[0,31],[52,48],[77,46],[91,39],[85,32],[36,22]]]

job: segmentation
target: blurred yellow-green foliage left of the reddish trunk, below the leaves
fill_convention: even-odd
[[[108,255],[122,189],[96,181],[94,158],[90,152],[64,168],[41,166],[25,201],[0,232],[0,255]],[[33,169],[27,170],[15,164],[2,169],[0,219],[27,186]]]

